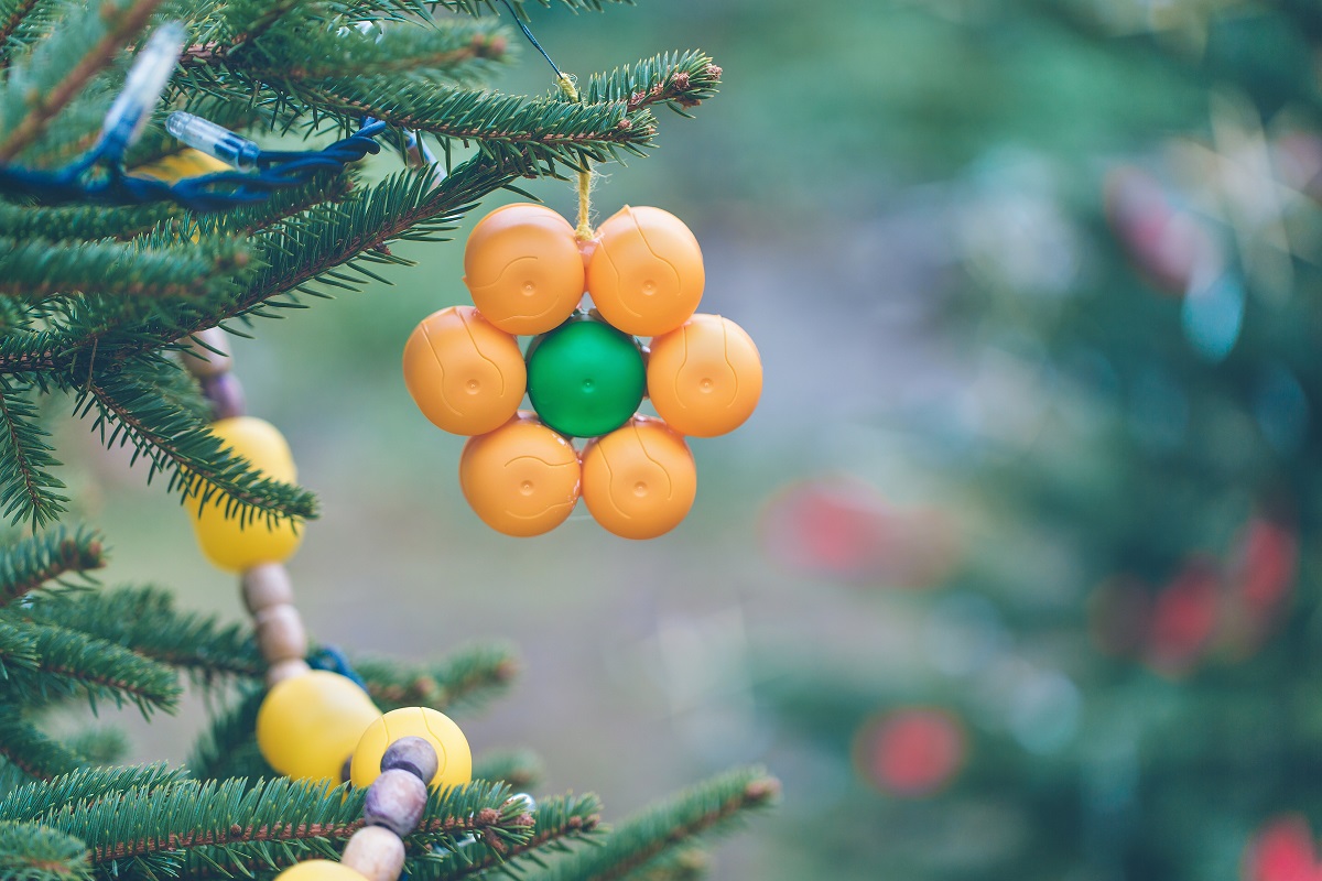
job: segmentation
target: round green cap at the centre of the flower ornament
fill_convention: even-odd
[[[627,423],[646,382],[637,341],[591,318],[570,318],[527,351],[533,409],[570,437],[598,437]]]

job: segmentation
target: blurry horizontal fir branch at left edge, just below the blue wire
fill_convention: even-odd
[[[251,262],[239,240],[194,244],[173,238],[167,244],[168,238],[124,243],[0,236],[0,296],[202,297],[233,288],[235,272]]]

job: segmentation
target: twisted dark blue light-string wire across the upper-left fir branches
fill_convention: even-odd
[[[238,205],[262,202],[275,190],[305,184],[319,172],[334,172],[368,153],[379,153],[381,144],[373,140],[386,129],[379,120],[366,119],[362,128],[319,151],[262,151],[256,165],[260,170],[218,172],[186,177],[173,184],[126,174],[118,160],[111,159],[102,144],[70,165],[56,170],[0,165],[0,192],[26,195],[42,203],[100,202],[111,205],[137,205],[173,201],[194,211],[222,211]],[[89,173],[98,165],[100,177]]]

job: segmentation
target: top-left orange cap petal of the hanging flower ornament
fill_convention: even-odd
[[[483,316],[505,333],[554,330],[583,299],[574,227],[543,205],[496,209],[468,236],[464,284]]]

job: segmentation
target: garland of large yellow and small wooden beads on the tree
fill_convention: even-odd
[[[293,458],[280,432],[243,413],[243,394],[230,372],[233,357],[218,328],[196,334],[184,366],[212,404],[212,431],[226,446],[268,477],[292,481]],[[312,670],[308,638],[293,605],[284,561],[299,546],[297,524],[239,526],[225,518],[222,493],[200,510],[193,526],[202,552],[217,567],[239,573],[243,605],[267,663],[267,693],[256,717],[262,757],[287,777],[368,787],[364,826],[340,863],[307,860],[280,873],[282,881],[398,881],[405,844],[422,818],[428,787],[472,778],[472,754],[459,726],[426,707],[382,715],[361,686],[336,672]],[[516,796],[525,798],[527,796]],[[527,799],[531,802],[531,799]]]

